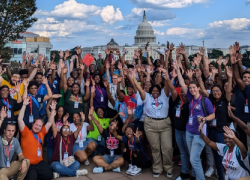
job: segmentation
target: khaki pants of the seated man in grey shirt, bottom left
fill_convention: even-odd
[[[16,173],[18,173],[17,180],[23,180],[26,176],[26,173],[30,166],[30,161],[27,159],[27,171],[21,174],[21,171],[19,171],[22,163],[19,161],[13,161],[10,164],[10,168],[2,168],[0,170],[0,179],[1,180],[8,180],[12,176],[14,176]]]

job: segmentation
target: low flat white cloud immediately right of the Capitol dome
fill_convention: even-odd
[[[166,31],[166,35],[185,37],[188,39],[199,39],[205,36],[205,30],[173,27]]]

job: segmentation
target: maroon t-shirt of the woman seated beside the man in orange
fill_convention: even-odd
[[[57,132],[56,138],[54,138],[54,153],[53,156],[50,160],[50,163],[53,163],[54,161],[60,161],[60,141],[61,141],[61,134],[59,132]],[[66,152],[66,146],[68,145],[68,156],[72,156],[73,153],[73,145],[76,141],[75,135],[74,133],[72,133],[71,135],[68,136],[68,139],[66,141],[64,141],[62,139],[62,159],[63,159],[63,155],[64,152]]]

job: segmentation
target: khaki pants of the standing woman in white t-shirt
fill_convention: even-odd
[[[164,168],[168,173],[172,173],[173,147],[170,118],[154,120],[150,117],[146,117],[144,121],[144,129],[152,149],[154,160],[153,171],[162,173]]]

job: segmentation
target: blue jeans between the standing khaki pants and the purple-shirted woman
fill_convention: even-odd
[[[175,129],[175,139],[181,153],[181,172],[189,174],[189,151],[186,142],[186,131]]]

